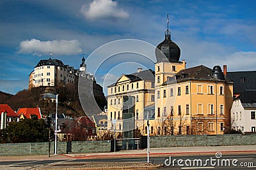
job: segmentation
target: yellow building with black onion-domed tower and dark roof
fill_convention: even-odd
[[[168,30],[156,58],[156,115],[150,133],[223,134],[230,122],[233,85],[220,66],[186,69]]]

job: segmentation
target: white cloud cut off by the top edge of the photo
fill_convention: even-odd
[[[83,4],[81,13],[84,17],[95,20],[98,18],[129,18],[129,13],[117,7],[117,2],[111,0],[94,0],[90,6]]]

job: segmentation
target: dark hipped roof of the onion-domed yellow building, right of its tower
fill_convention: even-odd
[[[220,66],[214,66],[220,67]],[[222,72],[216,73],[214,70],[210,69],[209,67],[200,65],[196,67],[191,67],[188,69],[183,69],[176,74],[177,81],[185,81],[185,80],[209,80],[209,81],[227,81],[228,83],[232,83]],[[221,70],[220,70],[221,71]],[[221,76],[214,76],[214,74],[221,74]],[[220,77],[222,77],[220,79]],[[222,80],[223,79],[223,80]],[[168,80],[165,83],[172,83],[173,81]]]

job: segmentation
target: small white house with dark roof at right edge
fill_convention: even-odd
[[[256,132],[256,90],[236,97],[231,108],[231,127],[241,132]]]

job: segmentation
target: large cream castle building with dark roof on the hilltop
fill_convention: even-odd
[[[29,89],[32,87],[55,87],[63,83],[75,83],[74,67],[63,64],[61,60],[40,60],[29,74]]]

